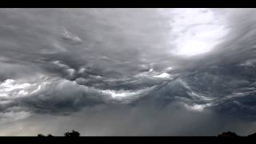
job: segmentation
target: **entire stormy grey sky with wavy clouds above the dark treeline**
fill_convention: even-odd
[[[1,9],[0,135],[256,132],[255,9]]]

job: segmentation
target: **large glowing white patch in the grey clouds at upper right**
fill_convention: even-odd
[[[171,33],[175,35],[170,39],[175,47],[172,54],[186,57],[206,54],[228,33],[224,18],[210,9],[174,9],[171,14]]]

